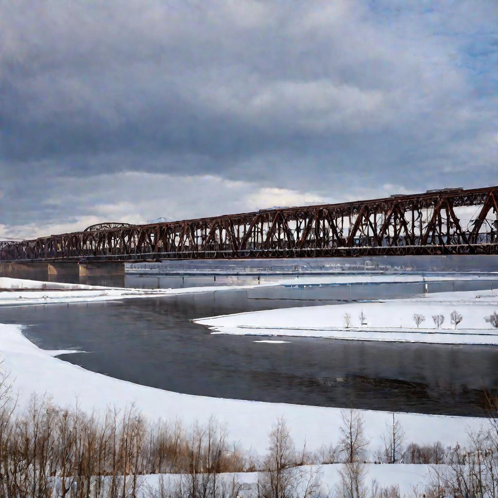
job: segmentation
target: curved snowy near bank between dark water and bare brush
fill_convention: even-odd
[[[211,415],[227,421],[230,435],[246,448],[264,453],[272,423],[285,416],[297,445],[306,439],[310,449],[322,444],[336,444],[341,410],[317,406],[194,396],[142,386],[115,379],[54,358],[57,352],[46,352],[26,339],[21,328],[0,325],[0,353],[5,368],[11,372],[14,386],[24,406],[31,393],[51,396],[59,405],[74,405],[91,411],[109,406],[130,406],[132,403],[149,419],[175,420],[186,424],[195,420],[204,423]],[[372,450],[381,445],[390,414],[363,410]],[[440,440],[445,446],[465,442],[469,429],[478,430],[485,420],[480,418],[399,414],[407,441],[419,444]]]

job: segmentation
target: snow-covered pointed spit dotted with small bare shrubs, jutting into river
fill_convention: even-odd
[[[451,321],[451,313],[455,310],[463,318],[456,328]],[[495,311],[498,311],[498,291],[484,290],[256,311],[202,318],[195,322],[223,334],[497,345],[498,330],[486,322]],[[415,314],[423,318],[418,328]],[[444,317],[439,328],[432,318],[435,315]]]

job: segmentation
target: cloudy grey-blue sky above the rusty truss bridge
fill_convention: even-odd
[[[498,184],[498,2],[0,0],[0,238]]]

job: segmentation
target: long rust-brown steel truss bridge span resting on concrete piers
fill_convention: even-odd
[[[0,242],[0,261],[498,254],[498,186]]]

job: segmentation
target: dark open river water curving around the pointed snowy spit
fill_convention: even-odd
[[[157,286],[157,282],[153,277],[127,283]],[[331,304],[350,295],[387,298],[422,291],[420,284],[295,289],[293,294],[274,288],[272,296],[277,299],[268,299],[264,292],[248,295],[240,289],[122,303],[1,308],[0,322],[32,325],[24,333],[43,349],[85,351],[61,358],[88,370],[177,392],[483,415],[483,381],[493,388],[498,385],[495,347],[310,338],[268,344],[251,336],[212,335],[190,322],[243,311]]]

